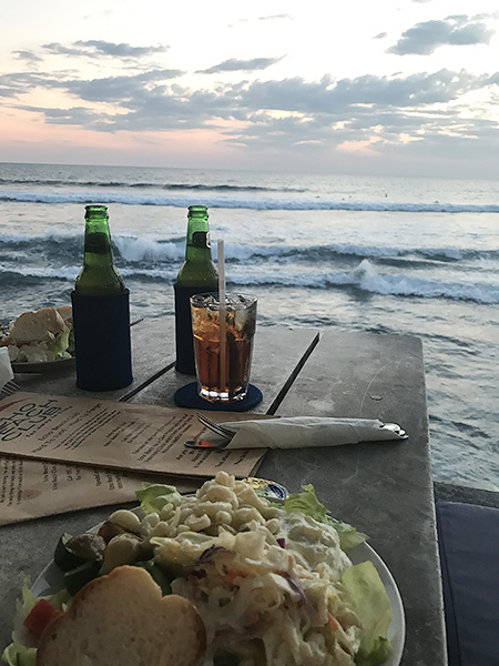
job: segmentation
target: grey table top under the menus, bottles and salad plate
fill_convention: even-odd
[[[134,383],[99,394],[164,406],[193,377],[174,371],[173,319],[132,326]],[[75,387],[74,370],[17,375],[24,391],[92,395]],[[399,423],[405,442],[269,451],[257,475],[292,492],[306,483],[332,514],[369,535],[400,591],[406,615],[404,666],[445,666],[445,629],[430,471],[424,361],[411,336],[312,329],[258,327],[252,383],[255,407],[276,415],[356,416]],[[0,505],[1,507],[1,505]],[[63,511],[63,507],[61,507]],[[62,532],[83,532],[111,508],[61,513],[0,527],[0,649],[10,642],[16,598],[52,559]]]

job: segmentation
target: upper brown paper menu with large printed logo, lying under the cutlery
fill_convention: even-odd
[[[131,473],[254,473],[265,450],[186,448],[203,430],[194,410],[21,392],[0,401],[0,454]]]

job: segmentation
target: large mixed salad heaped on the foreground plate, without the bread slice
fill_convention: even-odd
[[[200,666],[377,666],[390,658],[390,598],[373,562],[348,555],[366,536],[332,518],[313,486],[273,502],[218,472],[192,496],[161,484],[143,484],[136,496],[140,509],[61,536],[50,565],[60,588],[35,585],[34,594],[24,585],[7,664],[34,666],[39,649],[63,634],[60,617],[95,579],[130,567],[195,607],[205,628]],[[81,663],[100,664],[85,660],[88,643]]]

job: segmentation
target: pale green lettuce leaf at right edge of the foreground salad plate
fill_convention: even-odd
[[[342,576],[345,603],[363,625],[363,638],[355,657],[357,666],[378,666],[391,652],[387,638],[391,605],[381,578],[371,562],[347,568]]]

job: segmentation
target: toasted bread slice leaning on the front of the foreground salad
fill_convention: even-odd
[[[45,628],[37,666],[198,666],[205,649],[190,601],[162,596],[146,571],[120,566],[85,585]]]

